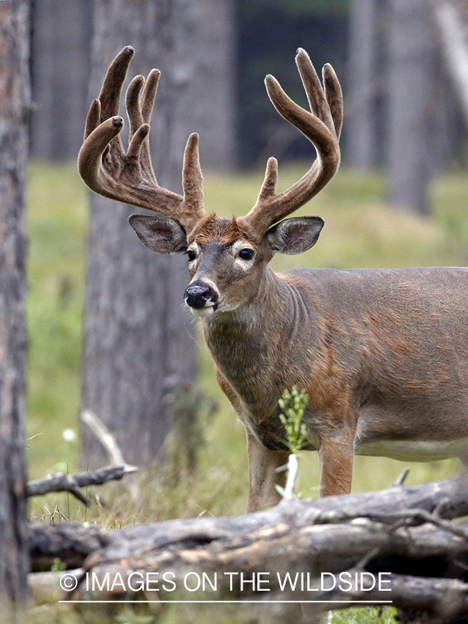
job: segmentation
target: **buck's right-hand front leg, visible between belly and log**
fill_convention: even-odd
[[[354,436],[322,438],[320,458],[320,496],[349,494],[353,476]]]

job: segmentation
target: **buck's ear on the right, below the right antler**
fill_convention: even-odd
[[[315,245],[324,223],[320,217],[294,217],[273,225],[265,236],[275,252],[302,254]]]

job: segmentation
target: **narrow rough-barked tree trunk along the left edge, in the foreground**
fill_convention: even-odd
[[[28,573],[24,412],[29,3],[0,3],[0,612],[23,603]]]

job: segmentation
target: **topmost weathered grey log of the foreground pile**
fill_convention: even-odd
[[[63,522],[54,525],[34,523],[31,554],[33,564],[38,558],[53,553],[68,567],[79,567],[89,554],[98,551],[93,541],[86,545],[87,534],[93,537],[96,531],[99,532],[99,539],[105,540],[105,544],[101,541],[101,546],[108,547],[99,556],[119,560],[130,552],[145,552],[173,544],[210,544],[243,537],[268,526],[291,525],[292,528],[300,528],[347,523],[366,517],[379,520],[381,524],[400,523],[401,526],[410,526],[428,521],[441,524],[443,519],[467,514],[467,480],[449,479],[414,487],[394,486],[381,492],[329,496],[314,501],[293,499],[275,508],[245,516],[171,520],[109,533],[95,526]],[[73,544],[74,541],[76,544]],[[57,554],[59,552],[62,555]],[[65,553],[70,553],[76,559],[73,562],[67,560]]]

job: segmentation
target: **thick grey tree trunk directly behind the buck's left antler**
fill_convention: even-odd
[[[230,10],[230,0],[94,1],[92,97],[127,44],[135,47],[130,76],[162,70],[151,124],[153,165],[159,184],[179,193],[185,141],[193,130],[200,132],[202,166],[209,162],[205,146],[213,148],[205,135],[212,133],[210,124],[223,125],[216,121],[220,108],[225,127],[220,132],[224,145],[229,142],[231,35],[226,41],[222,33]],[[220,76],[228,84],[223,89]],[[222,160],[219,151],[213,154]],[[168,392],[174,384],[193,381],[196,363],[189,335],[193,321],[182,309],[187,259],[158,256],[141,245],[127,223],[131,212],[135,209],[92,197],[83,409],[105,422],[126,462],[141,465],[153,460],[170,429]],[[83,431],[83,462],[93,467],[103,462],[88,431]]]

